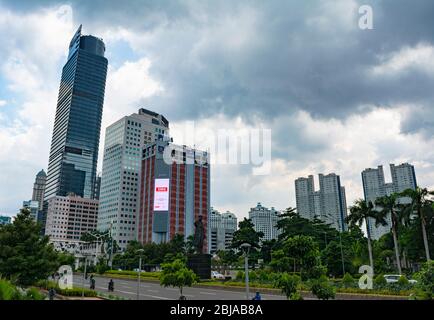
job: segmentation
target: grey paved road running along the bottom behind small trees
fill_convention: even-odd
[[[94,277],[95,289],[100,292],[108,293],[108,282],[110,279],[105,277]],[[114,295],[127,299],[135,300],[137,298],[137,281],[129,279],[113,279]],[[82,277],[74,275],[74,286],[82,286]],[[89,279],[85,280],[85,287],[89,288]],[[187,300],[244,300],[245,293],[229,291],[223,289],[206,289],[206,288],[184,288],[184,295]],[[251,292],[253,297],[254,292]],[[179,290],[177,288],[164,288],[157,282],[141,282],[140,300],[177,300]],[[262,294],[263,300],[286,300],[282,295]]]

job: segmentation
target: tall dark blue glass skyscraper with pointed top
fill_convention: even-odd
[[[94,197],[107,76],[104,42],[78,28],[63,67],[44,200]],[[45,211],[45,210],[44,210]]]

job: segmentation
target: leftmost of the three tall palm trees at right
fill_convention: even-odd
[[[371,201],[366,202],[363,199],[358,199],[354,202],[354,205],[350,207],[350,215],[346,218],[346,222],[350,225],[358,225],[359,227],[366,223],[366,231],[368,235],[368,252],[369,252],[369,264],[372,270],[374,270],[374,259],[372,257],[372,245],[371,245],[371,232],[368,227],[368,219],[375,219],[376,224],[381,223],[380,217],[377,212],[374,211],[374,205]]]

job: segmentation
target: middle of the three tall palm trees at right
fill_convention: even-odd
[[[389,196],[383,196],[381,198],[378,198],[375,201],[375,204],[380,207],[380,211],[378,212],[380,216],[386,217],[388,214],[390,214],[390,218],[392,220],[392,236],[395,246],[396,265],[398,267],[399,274],[402,274],[401,260],[399,259],[398,247],[398,224],[400,222],[400,218],[398,213],[399,204],[396,201],[397,199],[398,195],[396,193],[393,193]]]

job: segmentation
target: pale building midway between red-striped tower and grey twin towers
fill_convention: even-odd
[[[280,233],[277,229],[279,214],[273,207],[271,209],[265,208],[260,202],[256,207],[250,209],[249,219],[252,220],[255,231],[264,233],[261,241],[277,239]]]

